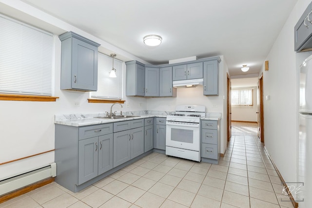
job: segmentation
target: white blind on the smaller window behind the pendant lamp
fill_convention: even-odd
[[[109,77],[113,58],[98,53],[98,91],[91,92],[93,98],[122,99],[122,62],[114,58],[117,77]]]

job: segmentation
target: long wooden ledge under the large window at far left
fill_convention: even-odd
[[[39,95],[5,95],[0,94],[0,100],[16,100],[16,101],[40,101],[55,102],[59,97],[39,96]]]

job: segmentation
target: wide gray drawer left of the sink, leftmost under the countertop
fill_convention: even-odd
[[[113,124],[101,124],[79,128],[79,140],[113,133]]]

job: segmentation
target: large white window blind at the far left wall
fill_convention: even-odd
[[[53,34],[0,15],[0,93],[52,95]]]

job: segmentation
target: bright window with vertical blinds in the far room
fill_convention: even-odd
[[[231,105],[233,107],[253,106],[253,89],[231,90]]]

